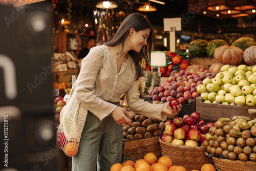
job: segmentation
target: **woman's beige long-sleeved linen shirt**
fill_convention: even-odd
[[[135,79],[133,58],[129,55],[117,73],[116,59],[107,46],[90,49],[89,54],[81,61],[81,70],[76,80],[75,97],[81,104],[100,120],[116,109],[113,102],[120,100],[126,93],[129,108],[146,117],[165,120],[162,114],[163,104],[152,104],[139,98],[138,81]]]

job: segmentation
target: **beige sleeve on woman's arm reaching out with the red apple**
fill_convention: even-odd
[[[162,114],[164,104],[154,104],[139,98],[138,81],[133,81],[131,88],[126,92],[126,99],[129,108],[137,114],[166,120],[167,114]]]

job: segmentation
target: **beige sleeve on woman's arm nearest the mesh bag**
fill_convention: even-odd
[[[110,115],[116,105],[104,101],[94,92],[97,74],[104,62],[104,50],[92,48],[81,62],[81,70],[76,80],[75,97],[100,120]]]

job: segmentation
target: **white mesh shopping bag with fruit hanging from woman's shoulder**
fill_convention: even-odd
[[[69,157],[78,152],[88,110],[75,98],[75,85],[73,84],[69,99],[60,112],[60,124],[57,131],[57,146]]]

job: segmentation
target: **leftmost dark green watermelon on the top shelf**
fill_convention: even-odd
[[[203,39],[196,39],[188,45],[188,53],[191,57],[205,57],[207,56],[206,47],[208,41]]]

